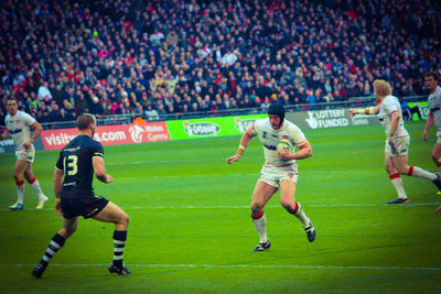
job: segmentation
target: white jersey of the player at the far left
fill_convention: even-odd
[[[4,119],[8,132],[11,134],[15,144],[15,150],[23,149],[23,143],[31,138],[30,126],[35,122],[35,119],[23,111],[17,111],[11,117],[8,115]]]

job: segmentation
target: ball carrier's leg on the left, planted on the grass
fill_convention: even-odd
[[[267,219],[263,214],[263,207],[276,192],[277,187],[275,186],[261,181],[256,183],[251,198],[251,218],[259,233],[260,242],[254,251],[262,251],[270,247],[267,237]]]

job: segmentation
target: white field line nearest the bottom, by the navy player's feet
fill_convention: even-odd
[[[0,264],[0,266],[31,268],[35,264]],[[52,264],[60,268],[105,268],[108,264]],[[426,266],[370,266],[370,265],[290,265],[290,264],[127,264],[128,268],[205,268],[205,269],[312,269],[312,270],[376,270],[376,271],[441,271]]]

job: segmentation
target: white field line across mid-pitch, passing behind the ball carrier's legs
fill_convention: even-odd
[[[416,206],[439,206],[438,203],[416,203],[416,204],[404,204],[404,205],[388,205],[388,204],[311,204],[303,205],[304,207],[416,207]],[[248,205],[158,205],[158,206],[122,206],[122,209],[249,209]],[[268,205],[266,208],[283,208],[280,205]],[[25,208],[25,210],[36,210],[34,208]],[[53,207],[45,207],[41,210],[54,210]],[[1,211],[10,211],[8,208],[0,208]]]

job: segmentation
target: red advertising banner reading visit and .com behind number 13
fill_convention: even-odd
[[[41,139],[45,150],[64,148],[78,133],[77,129],[44,130]],[[94,139],[103,145],[133,144],[169,141],[170,134],[165,122],[97,127]]]

